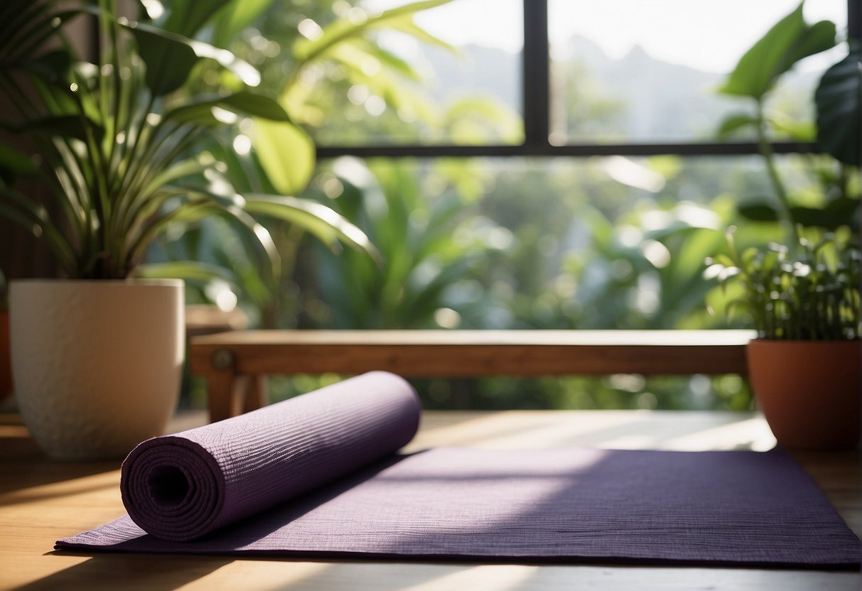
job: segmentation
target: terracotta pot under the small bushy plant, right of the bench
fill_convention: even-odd
[[[746,355],[754,396],[779,445],[807,450],[859,445],[859,340],[754,339]]]

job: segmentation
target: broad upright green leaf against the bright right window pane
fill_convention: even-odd
[[[803,4],[776,23],[740,58],[720,92],[759,100],[776,78],[800,59],[834,47],[834,23],[821,21],[809,25],[803,17]]]

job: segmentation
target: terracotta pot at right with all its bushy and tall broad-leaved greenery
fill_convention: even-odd
[[[859,343],[858,40],[828,69],[815,90],[816,139],[826,154],[813,155],[821,179],[821,206],[791,198],[776,165],[768,133],[784,129],[767,114],[765,99],[778,78],[800,59],[835,45],[831,22],[809,25],[803,4],[771,28],[741,59],[722,92],[753,99],[754,113],[734,115],[722,132],[753,129],[774,194],[773,203],[748,203],[740,213],[780,221],[783,244],[737,249],[708,261],[707,277],[735,289],[728,309],[744,309],[757,329],[747,346],[748,372],[759,407],[780,445],[840,449],[859,444],[862,347]],[[856,171],[856,172],[854,172]]]

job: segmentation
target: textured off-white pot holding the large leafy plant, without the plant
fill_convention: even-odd
[[[164,431],[184,358],[182,281],[13,281],[9,325],[18,406],[49,457],[122,457]]]

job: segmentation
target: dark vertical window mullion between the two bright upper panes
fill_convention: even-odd
[[[550,122],[547,0],[524,0],[524,144],[547,146]]]

